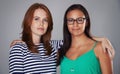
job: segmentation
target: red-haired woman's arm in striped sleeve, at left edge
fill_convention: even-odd
[[[24,74],[23,52],[20,44],[15,44],[10,48],[9,53],[9,73]]]

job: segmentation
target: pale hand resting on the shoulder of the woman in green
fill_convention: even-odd
[[[115,56],[115,50],[111,42],[104,37],[93,37],[95,40],[102,42],[102,48],[104,52],[108,52],[111,59]]]

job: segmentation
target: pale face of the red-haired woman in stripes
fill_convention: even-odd
[[[47,13],[43,9],[36,9],[33,14],[33,20],[31,24],[32,35],[42,36],[46,33],[47,28]]]

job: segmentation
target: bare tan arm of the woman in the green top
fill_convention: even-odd
[[[104,53],[102,49],[102,44],[98,43],[95,48],[95,53],[100,62],[100,67],[102,74],[113,74],[112,70],[112,60],[108,53]]]

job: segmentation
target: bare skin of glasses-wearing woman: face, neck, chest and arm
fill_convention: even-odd
[[[79,17],[85,17],[83,12],[81,12],[80,10],[72,10],[67,14],[67,19],[77,19]],[[72,37],[72,42],[68,52],[66,53],[66,57],[71,60],[75,60],[79,56],[88,52],[94,45],[95,41],[88,38],[84,33],[85,23],[86,20],[84,20],[83,24],[78,24],[76,21],[74,21],[73,25],[67,24],[68,30]],[[109,54],[107,52],[104,53],[104,50],[102,49],[102,43],[98,42],[97,46],[94,49],[94,53],[100,61],[102,74],[112,74],[112,60]]]

